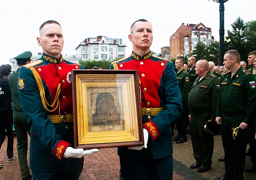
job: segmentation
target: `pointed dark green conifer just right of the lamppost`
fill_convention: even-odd
[[[230,42],[226,43],[225,50],[236,49],[240,53],[241,60],[246,60],[249,51],[245,36],[245,32],[248,29],[247,23],[238,17],[231,26],[232,30],[227,30],[228,36],[226,39],[230,39]]]

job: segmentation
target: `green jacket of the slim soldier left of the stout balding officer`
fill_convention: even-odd
[[[181,92],[181,99],[183,102],[187,101],[187,97],[189,96],[190,85],[189,85],[189,73],[185,72],[185,70],[181,70],[177,72],[177,80],[178,87]]]

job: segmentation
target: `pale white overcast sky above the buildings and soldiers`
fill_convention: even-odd
[[[244,21],[256,20],[255,0],[229,0],[225,6],[225,36],[227,29],[240,16]],[[211,0],[10,0],[0,2],[0,64],[9,63],[24,51],[33,55],[42,52],[37,45],[39,26],[56,20],[64,34],[62,54],[76,54],[75,48],[88,37],[99,35],[122,38],[127,45],[126,56],[132,50],[128,40],[131,24],[145,18],[153,24],[152,51],[159,53],[169,46],[169,37],[184,24],[203,23],[211,27],[212,36],[219,39],[219,4]]]

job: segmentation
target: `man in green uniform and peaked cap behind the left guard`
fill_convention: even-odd
[[[32,53],[30,51],[23,52],[14,57],[17,61],[18,69],[8,77],[11,88],[11,100],[13,101],[11,108],[13,109],[13,124],[17,136],[18,162],[20,163],[21,178],[23,180],[32,178],[32,175],[29,173],[29,166],[27,165],[27,133],[30,135],[31,125],[27,122],[21,107],[17,85],[20,67],[30,63],[31,57]]]

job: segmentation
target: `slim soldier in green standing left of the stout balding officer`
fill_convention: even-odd
[[[185,72],[183,64],[184,64],[183,58],[177,58],[177,60],[175,60],[175,69],[177,70],[178,87],[180,88],[181,99],[183,104],[183,112],[175,122],[177,126],[178,135],[172,138],[172,141],[176,141],[177,144],[187,141],[186,114],[187,114],[187,97],[189,95],[190,85],[189,85],[189,73]],[[174,124],[172,124],[172,131],[173,131],[173,126]]]

